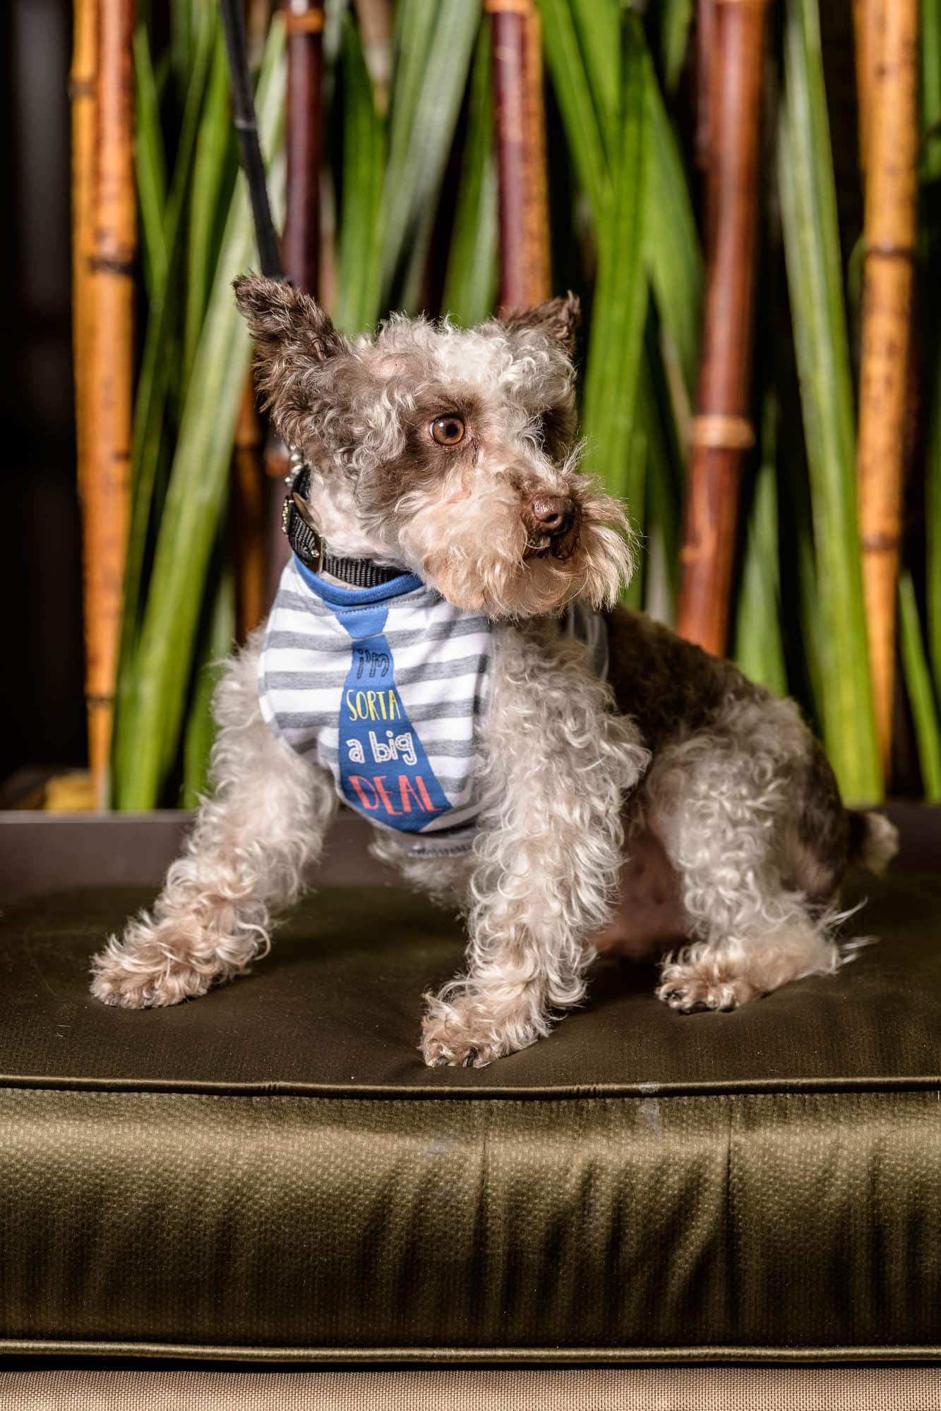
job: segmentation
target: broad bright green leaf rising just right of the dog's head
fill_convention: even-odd
[[[643,504],[643,464],[632,457],[637,382],[647,317],[643,270],[647,157],[644,45],[634,16],[625,20],[620,143],[610,220],[598,231],[598,284],[585,373],[582,429],[588,463],[603,470],[609,490]],[[643,522],[643,521],[641,521]]]

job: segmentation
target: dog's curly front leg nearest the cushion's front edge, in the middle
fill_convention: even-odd
[[[610,917],[622,800],[649,753],[586,650],[554,624],[495,629],[485,813],[468,907],[468,972],[427,996],[425,1061],[485,1067],[578,1003],[589,937]]]

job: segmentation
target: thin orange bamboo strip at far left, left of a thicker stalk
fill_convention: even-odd
[[[95,192],[95,68],[97,11],[95,0],[75,0],[69,103],[72,110],[72,363],[75,377],[75,440],[79,477],[85,470],[89,398],[89,254],[93,241]],[[81,490],[81,481],[79,481]]]

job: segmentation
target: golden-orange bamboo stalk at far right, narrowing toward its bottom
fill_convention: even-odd
[[[892,749],[903,452],[917,217],[917,0],[876,0],[869,30],[865,272],[859,371],[859,532],[883,770]]]

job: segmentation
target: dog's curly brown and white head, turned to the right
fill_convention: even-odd
[[[404,563],[490,617],[616,600],[629,532],[578,470],[572,295],[469,330],[394,316],[353,340],[271,279],[237,279],[236,298],[333,553]]]

